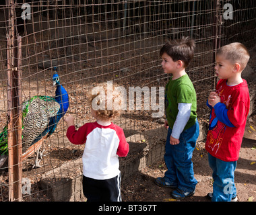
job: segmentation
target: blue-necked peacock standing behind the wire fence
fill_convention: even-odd
[[[56,85],[55,97],[36,95],[22,103],[22,159],[36,153],[33,166],[41,167],[38,157],[42,138],[47,138],[55,131],[59,120],[69,107],[69,95],[59,83],[59,75],[53,75],[53,85]],[[0,167],[8,157],[8,128],[3,128],[0,134]],[[37,151],[37,152],[36,152]]]

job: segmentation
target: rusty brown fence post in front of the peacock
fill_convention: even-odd
[[[15,36],[15,5],[8,1],[7,108],[9,153],[9,201],[22,201],[22,38]]]

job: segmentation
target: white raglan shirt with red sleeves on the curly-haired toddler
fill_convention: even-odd
[[[122,128],[113,123],[102,126],[90,122],[78,130],[69,126],[67,138],[73,144],[86,144],[82,158],[84,176],[102,180],[119,175],[119,157],[126,157],[129,152]]]

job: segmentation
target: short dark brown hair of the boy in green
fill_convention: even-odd
[[[184,67],[186,68],[194,56],[194,49],[194,40],[189,37],[182,37],[178,40],[170,40],[169,42],[166,42],[160,50],[160,56],[166,53],[173,61],[182,60]]]

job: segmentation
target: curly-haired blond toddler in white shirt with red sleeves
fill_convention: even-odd
[[[107,91],[110,91],[109,87]],[[88,202],[121,202],[119,157],[127,156],[129,144],[123,129],[111,122],[119,111],[115,105],[112,110],[106,107],[106,103],[115,99],[115,95],[112,97],[112,93],[107,91],[106,85],[102,85],[101,93],[92,95],[91,112],[96,122],[86,123],[76,130],[73,116],[64,118],[69,141],[85,144],[82,158],[83,191]],[[94,107],[98,110],[94,110]]]

